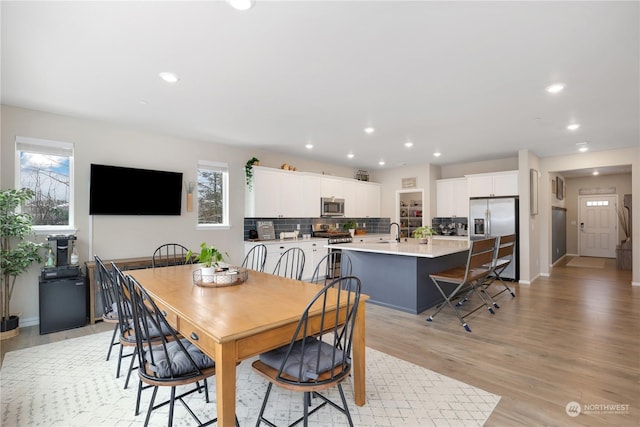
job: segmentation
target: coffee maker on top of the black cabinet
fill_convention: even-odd
[[[59,277],[75,277],[81,274],[78,265],[76,236],[72,234],[50,234],[49,252],[45,257],[45,268],[42,269],[43,279]]]

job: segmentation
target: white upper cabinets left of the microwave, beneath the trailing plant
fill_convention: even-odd
[[[304,216],[301,197],[304,184],[300,173],[254,166],[253,185],[246,191],[245,216],[247,217]]]

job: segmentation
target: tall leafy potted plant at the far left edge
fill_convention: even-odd
[[[9,304],[18,276],[29,270],[33,263],[42,262],[41,250],[44,244],[26,239],[32,233],[31,216],[16,212],[20,205],[34,196],[33,190],[28,188],[0,192],[0,332],[3,338],[17,335],[19,319],[17,315],[11,314]]]

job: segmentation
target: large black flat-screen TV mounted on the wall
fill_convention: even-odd
[[[180,215],[182,173],[91,164],[90,215]]]

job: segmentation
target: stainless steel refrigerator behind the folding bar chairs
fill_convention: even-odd
[[[469,238],[471,240],[516,235],[515,253],[503,279],[520,278],[517,197],[472,197],[469,199]]]

